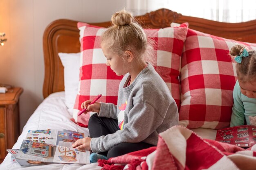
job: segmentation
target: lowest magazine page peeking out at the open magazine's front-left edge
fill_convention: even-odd
[[[18,162],[21,166],[32,166],[32,165],[47,165],[49,163],[42,161],[34,161],[34,160],[26,160],[26,159],[18,159],[17,155],[19,153],[19,149],[7,149],[7,152],[11,154],[11,159],[13,161]],[[33,158],[32,158],[33,159]]]

